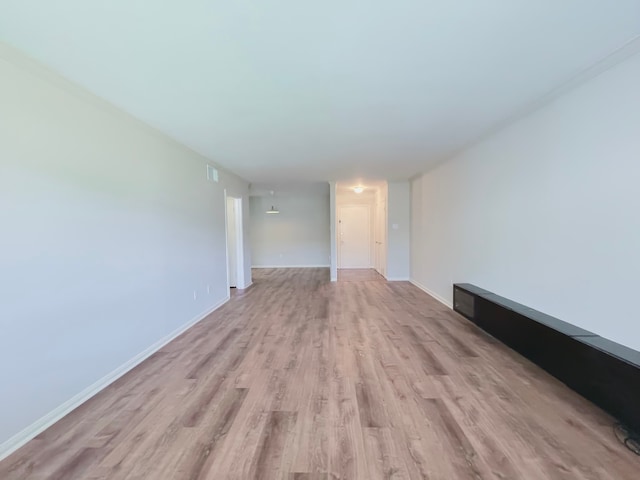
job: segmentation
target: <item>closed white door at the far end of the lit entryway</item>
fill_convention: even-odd
[[[371,267],[371,219],[368,205],[345,205],[338,211],[338,268]]]

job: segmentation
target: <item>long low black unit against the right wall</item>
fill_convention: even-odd
[[[453,309],[640,432],[640,352],[468,283]]]

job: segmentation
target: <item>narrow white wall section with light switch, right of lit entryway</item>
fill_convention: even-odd
[[[387,279],[409,280],[411,189],[408,181],[387,184]]]

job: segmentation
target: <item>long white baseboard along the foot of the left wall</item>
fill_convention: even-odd
[[[171,342],[175,338],[182,335],[184,332],[189,330],[189,328],[193,327],[196,323],[200,322],[201,320],[204,320],[212,312],[214,312],[215,310],[220,308],[222,305],[227,303],[229,301],[229,298],[230,296],[227,295],[227,298],[219,302],[217,305],[211,307],[206,312],[191,319],[186,324],[182,325],[178,329],[166,335],[164,338],[158,340],[156,343],[154,343],[147,349],[140,352],[131,360],[127,361],[120,367],[116,368],[114,371],[107,374],[106,376],[104,376],[94,384],[88,386],[87,388],[82,390],[80,393],[71,397],[62,405],[56,407],[55,409],[47,413],[44,417],[40,418],[39,420],[36,420],[27,428],[25,428],[21,432],[18,432],[13,437],[9,438],[8,440],[0,444],[0,460],[3,460],[4,458],[11,455],[13,452],[15,452],[17,449],[22,447],[29,440],[33,439],[34,437],[36,437],[37,435],[45,431],[47,428],[49,428],[51,425],[56,423],[58,420],[60,420],[67,414],[71,413],[73,410],[78,408],[80,405],[82,405],[84,402],[89,400],[91,397],[99,393],[104,388],[108,387],[110,384],[115,382],[118,378],[122,377],[129,370],[133,369],[134,367],[136,367],[137,365],[145,361],[151,355],[153,355],[162,347],[164,347],[167,343]]]

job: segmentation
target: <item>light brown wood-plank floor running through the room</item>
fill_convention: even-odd
[[[640,478],[589,402],[412,285],[341,273],[254,272],[0,479]]]

